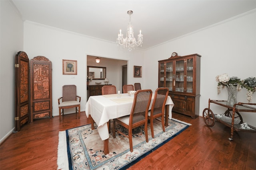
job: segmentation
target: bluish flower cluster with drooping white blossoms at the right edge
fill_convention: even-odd
[[[252,94],[256,92],[256,78],[255,77],[248,77],[242,80],[242,87],[246,88],[247,93],[247,100],[248,102],[252,101]]]

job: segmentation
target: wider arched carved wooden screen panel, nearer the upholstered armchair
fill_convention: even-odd
[[[30,60],[30,113],[31,122],[52,118],[52,62],[43,56]]]

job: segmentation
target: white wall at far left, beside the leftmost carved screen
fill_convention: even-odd
[[[23,21],[10,1],[0,1],[0,142],[14,130],[14,59],[23,50]]]

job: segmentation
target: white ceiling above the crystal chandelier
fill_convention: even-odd
[[[116,43],[142,30],[142,49],[256,10],[256,0],[12,0],[22,19]]]

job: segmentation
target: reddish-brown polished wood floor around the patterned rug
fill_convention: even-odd
[[[173,113],[192,125],[129,169],[154,170],[256,170],[256,133],[235,132],[216,122],[207,127],[202,117]],[[84,112],[40,119],[24,125],[0,146],[1,170],[56,170],[58,133],[90,123]],[[110,144],[111,145],[111,144]]]

